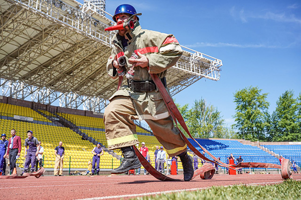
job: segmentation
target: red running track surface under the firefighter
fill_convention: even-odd
[[[183,178],[183,175],[173,175]],[[301,175],[293,174],[301,180]],[[1,179],[1,199],[119,199],[184,190],[198,190],[217,185],[274,184],[280,174],[215,174],[212,179],[196,177],[189,182],[160,181],[152,175],[114,176],[29,176],[24,179]]]

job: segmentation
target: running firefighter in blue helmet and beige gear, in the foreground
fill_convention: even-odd
[[[118,30],[112,39],[113,49],[107,62],[107,72],[112,78],[122,77],[132,67],[131,73],[126,75],[127,85],[121,86],[109,98],[110,103],[104,111],[108,149],[121,148],[124,157],[120,166],[111,173],[124,173],[141,166],[133,148],[139,142],[133,119],[139,119],[148,123],[171,157],[180,157],[184,180],[189,181],[194,170],[191,156],[187,154],[187,144],[174,126],[173,118],[150,75],[157,74],[166,87],[167,69],[176,64],[183,51],[174,35],[141,29],[136,14],[132,5],[122,4],[113,15],[117,24],[128,22],[131,17],[134,25],[133,30]]]

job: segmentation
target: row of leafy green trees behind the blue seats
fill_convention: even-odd
[[[292,90],[286,90],[272,113],[268,112],[267,95],[253,86],[236,91],[235,123],[230,128],[225,127],[221,112],[203,98],[195,100],[191,109],[188,104],[177,106],[194,137],[301,141],[301,93],[294,97]]]

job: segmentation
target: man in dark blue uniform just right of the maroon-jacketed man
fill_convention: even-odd
[[[26,157],[24,164],[24,172],[28,171],[28,167],[31,164],[31,172],[35,171],[36,158],[39,154],[40,144],[39,140],[33,136],[33,131],[27,131],[27,138],[24,142],[24,157]]]

